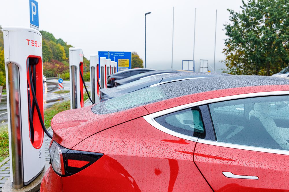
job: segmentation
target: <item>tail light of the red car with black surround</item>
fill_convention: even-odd
[[[103,153],[66,149],[53,141],[49,148],[51,166],[60,176],[73,175],[97,161]]]

